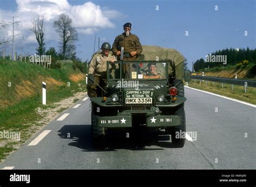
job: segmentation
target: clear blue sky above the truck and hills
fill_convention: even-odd
[[[32,2],[32,0],[26,0]],[[49,0],[50,1],[50,0]],[[57,0],[52,0],[57,2]],[[66,1],[66,0],[64,0]],[[17,1],[19,3],[19,1]],[[83,5],[87,1],[69,0],[70,6]],[[175,48],[188,60],[188,68],[192,62],[211,52],[224,48],[255,48],[255,0],[184,0],[184,1],[91,1],[99,9],[107,10],[103,15],[106,24],[95,27],[90,34],[79,32],[77,53],[82,60],[90,59],[93,53],[95,34],[100,38],[100,45],[107,41],[113,44],[116,35],[123,32],[122,25],[132,23],[132,33],[138,35],[143,45],[157,45]],[[11,13],[19,16],[18,5],[13,0],[0,0],[2,17],[8,19]],[[218,10],[215,10],[215,5]],[[159,6],[159,10],[156,10]],[[66,9],[62,9],[66,10]],[[113,14],[111,15],[111,11]],[[3,15],[4,14],[4,15]],[[86,15],[86,13],[85,13]],[[18,17],[22,20],[22,16]],[[102,18],[103,19],[103,18]],[[79,20],[73,20],[77,25]],[[52,24],[49,21],[48,25]],[[111,26],[107,26],[111,25]],[[17,28],[18,29],[18,28]],[[188,31],[188,36],[185,32]],[[248,35],[245,36],[244,32]],[[29,32],[23,28],[22,32]],[[3,31],[2,31],[3,34]],[[48,30],[48,35],[56,34]],[[21,37],[22,38],[22,37]],[[2,39],[0,35],[0,39]],[[23,42],[17,39],[17,51],[33,54],[36,42]],[[98,44],[98,42],[97,42]],[[46,48],[58,48],[57,38],[49,38]],[[22,48],[21,48],[22,47]],[[97,45],[98,48],[98,45]],[[11,49],[11,48],[10,48]],[[1,51],[1,49],[0,49]]]

